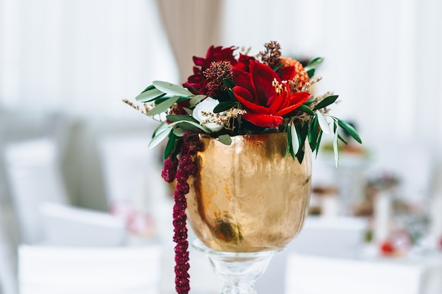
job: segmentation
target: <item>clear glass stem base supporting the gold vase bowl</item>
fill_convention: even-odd
[[[263,252],[219,252],[196,239],[192,246],[207,255],[215,274],[225,281],[221,294],[256,294],[254,283],[267,269],[270,259],[280,249]]]

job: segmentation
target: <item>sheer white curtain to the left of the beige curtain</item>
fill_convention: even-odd
[[[155,79],[177,82],[155,0],[0,0],[0,109],[131,116]]]

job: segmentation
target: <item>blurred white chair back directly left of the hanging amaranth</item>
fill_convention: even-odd
[[[110,134],[98,139],[104,187],[109,206],[129,203],[141,211],[152,211],[154,197],[166,193],[160,176],[161,154],[149,149],[145,133]]]

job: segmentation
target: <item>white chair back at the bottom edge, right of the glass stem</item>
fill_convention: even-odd
[[[422,266],[290,254],[285,294],[419,294]]]

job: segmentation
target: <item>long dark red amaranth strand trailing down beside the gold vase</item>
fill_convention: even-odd
[[[175,246],[175,290],[178,294],[187,294],[189,285],[189,242],[187,241],[186,227],[186,194],[189,193],[187,180],[196,171],[193,163],[193,155],[201,149],[201,143],[197,134],[190,132],[184,134],[181,144],[181,158],[177,160],[169,156],[165,160],[162,176],[167,182],[173,182],[175,176],[177,187],[174,192],[174,242]],[[178,170],[177,170],[178,163]],[[175,173],[176,172],[176,173]]]

